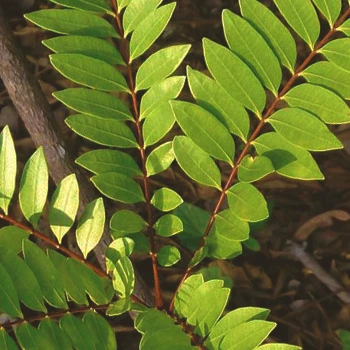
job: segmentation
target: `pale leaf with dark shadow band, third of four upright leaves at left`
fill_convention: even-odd
[[[49,223],[59,243],[72,227],[79,207],[79,186],[75,174],[64,178],[52,196]]]

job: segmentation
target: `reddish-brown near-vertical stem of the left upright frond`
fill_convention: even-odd
[[[143,135],[142,135],[142,121],[140,120],[137,94],[135,91],[135,79],[133,77],[133,70],[132,70],[132,65],[129,57],[129,49],[128,49],[129,43],[124,38],[124,30],[123,30],[121,16],[118,11],[118,5],[116,0],[113,0],[112,4],[116,15],[117,29],[121,37],[120,51],[127,67],[127,79],[128,79],[128,84],[129,84],[129,89],[131,94],[131,100],[132,100],[133,115],[134,115],[134,121],[136,126],[137,143],[139,145],[139,151],[140,151],[141,166],[142,166],[142,173],[143,173],[143,179],[142,179],[143,189],[144,189],[144,195],[146,199],[146,210],[147,210],[147,224],[148,224],[147,230],[148,230],[148,238],[151,246],[150,256],[152,260],[152,269],[153,269],[153,278],[154,278],[155,304],[157,309],[162,309],[163,298],[161,295],[161,288],[160,288],[158,263],[157,263],[157,247],[156,247],[156,240],[155,240],[155,231],[153,227],[154,222],[153,222],[152,204],[151,204],[151,185],[150,185],[150,181],[149,181],[149,178],[147,175],[147,169],[146,169],[146,153],[145,153]]]

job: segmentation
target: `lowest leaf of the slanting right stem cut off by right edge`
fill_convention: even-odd
[[[350,111],[345,101],[332,91],[314,84],[300,84],[283,97],[291,107],[315,114],[327,124],[350,122]]]

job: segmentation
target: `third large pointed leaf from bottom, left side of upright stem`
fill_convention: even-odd
[[[117,120],[105,120],[87,114],[76,114],[66,119],[67,125],[78,135],[111,147],[133,148],[137,142],[130,128]]]

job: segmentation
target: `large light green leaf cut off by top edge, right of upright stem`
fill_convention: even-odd
[[[162,0],[131,0],[123,15],[124,38],[134,31]]]

